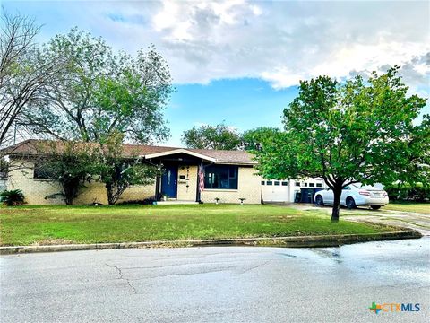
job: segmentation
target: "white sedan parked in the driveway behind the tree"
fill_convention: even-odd
[[[329,188],[315,193],[314,201],[316,205],[332,205],[333,191]],[[340,205],[345,205],[349,209],[358,205],[370,205],[374,210],[388,204],[388,194],[380,188],[363,186],[360,183],[351,184],[342,189]]]

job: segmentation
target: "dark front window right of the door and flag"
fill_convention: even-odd
[[[204,188],[237,189],[237,166],[211,165],[206,167]]]

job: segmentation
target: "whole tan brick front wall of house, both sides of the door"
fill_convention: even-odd
[[[22,189],[26,202],[29,205],[59,205],[64,204],[64,199],[59,194],[62,192],[60,185],[50,179],[33,179],[33,162],[26,162],[25,169],[21,168],[10,172],[7,183],[8,189]],[[13,167],[11,167],[13,169]],[[182,201],[195,201],[197,188],[197,166],[179,166],[177,178],[177,199]],[[202,192],[204,203],[215,203],[215,197],[220,198],[220,203],[239,203],[239,198],[245,198],[245,204],[260,204],[261,202],[261,177],[254,175],[252,167],[238,168],[237,189],[206,189]],[[184,175],[184,179],[180,176]],[[186,180],[188,179],[188,180]],[[188,188],[187,188],[188,185]],[[153,197],[155,183],[149,186],[133,186],[127,188],[118,200],[118,203],[130,200],[142,200]],[[47,196],[53,196],[49,198]],[[73,201],[74,205],[88,205],[93,202],[107,204],[107,192],[103,183],[86,183],[81,188],[80,194]]]

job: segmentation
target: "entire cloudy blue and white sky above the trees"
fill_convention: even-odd
[[[176,92],[171,138],[225,122],[238,131],[281,127],[299,80],[342,81],[400,65],[410,94],[430,96],[428,1],[5,1],[42,24],[38,42],[74,26],[133,54],[150,43]],[[427,104],[425,113],[430,113]]]

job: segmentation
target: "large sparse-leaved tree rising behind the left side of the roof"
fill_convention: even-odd
[[[25,110],[25,124],[34,133],[99,143],[116,131],[141,144],[168,137],[162,109],[172,92],[171,78],[155,48],[132,58],[74,28],[51,39],[39,57],[63,57],[66,66],[45,88],[50,104]]]

